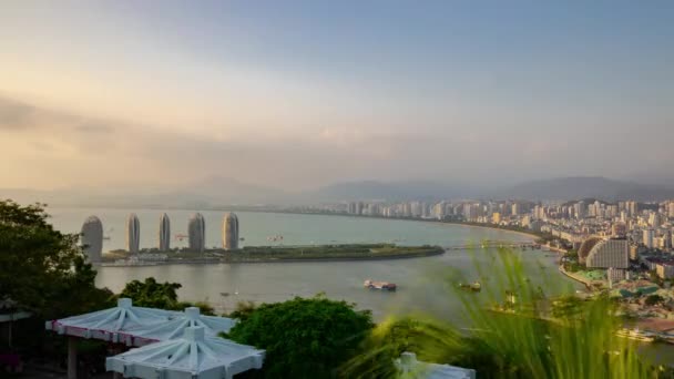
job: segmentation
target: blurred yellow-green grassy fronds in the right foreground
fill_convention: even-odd
[[[362,355],[343,366],[341,376],[395,377],[392,360],[413,351],[420,360],[476,369],[478,378],[658,377],[637,356],[635,342],[615,335],[622,324],[610,299],[547,298],[513,252],[500,250],[490,267],[478,297],[457,290],[468,330],[428,318],[390,319],[374,330]]]

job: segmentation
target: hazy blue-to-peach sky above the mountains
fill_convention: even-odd
[[[674,177],[674,1],[0,2],[0,187]]]

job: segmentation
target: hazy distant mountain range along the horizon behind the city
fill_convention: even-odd
[[[619,199],[645,202],[674,198],[674,186],[650,185],[605,177],[578,176],[532,181],[512,187],[488,191],[471,190],[466,186],[429,181],[361,181],[336,183],[302,193],[288,193],[273,187],[242,183],[232,178],[212,177],[191,184],[190,186],[166,191],[141,191],[137,188],[0,190],[0,198],[12,198],[20,203],[34,203],[39,201],[53,206],[145,206],[192,209],[232,205],[300,205],[321,202],[378,199],[511,198],[573,201],[598,198],[609,202]]]

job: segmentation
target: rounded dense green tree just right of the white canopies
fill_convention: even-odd
[[[371,314],[323,296],[264,304],[226,336],[266,350],[266,378],[328,378],[357,354]]]

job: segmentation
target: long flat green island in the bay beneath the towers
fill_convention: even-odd
[[[246,246],[236,250],[222,248],[194,252],[186,248],[140,254],[112,250],[103,255],[103,265],[137,266],[161,264],[275,263],[399,259],[440,255],[440,246],[398,246],[395,244],[338,244],[308,246]]]

